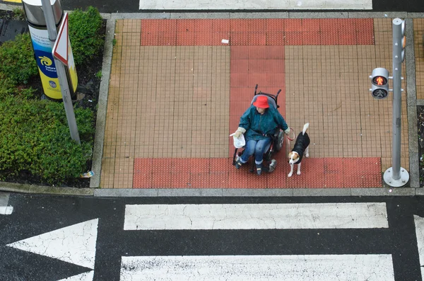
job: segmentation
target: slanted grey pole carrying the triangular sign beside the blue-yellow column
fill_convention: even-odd
[[[52,5],[50,0],[41,0],[42,2],[42,11],[44,13],[47,25],[47,31],[49,33],[50,44],[54,45],[54,42],[57,39],[57,30],[56,25],[54,24],[54,16]],[[71,93],[69,91],[68,80],[66,79],[66,70],[64,64],[59,61],[59,59],[54,59],[54,64],[56,66],[57,77],[59,79],[59,85],[61,88],[62,99],[64,101],[64,108],[66,113],[66,119],[68,120],[69,132],[71,132],[71,138],[81,144],[78,127],[76,126],[75,113],[73,113],[73,106],[71,101]]]

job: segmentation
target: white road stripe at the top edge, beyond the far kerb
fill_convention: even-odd
[[[140,10],[372,10],[372,0],[140,0]]]

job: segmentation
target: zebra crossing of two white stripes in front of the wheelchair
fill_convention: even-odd
[[[382,202],[126,205],[124,218],[125,230],[140,231],[387,227]],[[153,279],[394,280],[394,270],[387,254],[122,257],[121,280]]]

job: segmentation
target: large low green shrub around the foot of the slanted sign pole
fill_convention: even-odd
[[[0,103],[0,178],[29,171],[49,184],[86,171],[93,145],[93,113],[75,110],[81,146],[70,137],[64,105],[8,97]]]

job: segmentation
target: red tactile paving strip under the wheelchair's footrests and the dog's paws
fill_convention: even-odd
[[[303,159],[287,177],[290,165],[278,154],[273,173],[250,173],[251,162],[237,170],[232,159],[135,159],[134,188],[378,188],[379,158]]]

